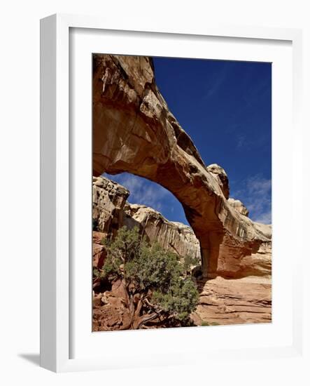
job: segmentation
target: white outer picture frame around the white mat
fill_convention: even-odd
[[[41,366],[49,370],[84,371],[104,370],[107,368],[119,368],[125,366],[153,366],[162,364],[182,364],[186,352],[199,352],[199,357],[212,356],[224,358],[234,355],[235,359],[242,360],[249,355],[253,359],[302,357],[302,284],[297,277],[297,269],[302,263],[302,246],[300,257],[293,261],[292,272],[292,339],[284,345],[270,345],[269,347],[227,347],[213,350],[212,353],[202,347],[177,347],[177,353],[155,359],[151,355],[145,357],[133,357],[125,361],[120,358],[115,361],[113,355],[108,360],[106,357],[85,356],[72,358],[71,344],[73,332],[71,331],[71,318],[74,314],[71,310],[74,286],[70,283],[70,204],[71,173],[69,149],[72,146],[69,130],[70,90],[69,90],[69,52],[70,29],[87,29],[90,32],[122,31],[122,33],[135,30],[143,39],[148,39],[150,33],[165,36],[191,36],[192,39],[201,39],[203,36],[213,36],[217,39],[239,39],[239,41],[288,41],[293,50],[293,136],[294,162],[298,163],[301,157],[302,126],[300,123],[300,106],[302,100],[302,32],[299,29],[259,28],[245,26],[208,25],[206,27],[176,27],[158,28],[156,30],[144,30],[143,26],[133,26],[130,22],[117,25],[115,22],[107,22],[101,18],[83,15],[52,15],[41,20]],[[108,39],[108,36],[106,37]],[[120,52],[118,52],[120,53]],[[125,52],[128,53],[128,52]],[[295,175],[295,182],[302,183],[302,176]],[[297,192],[292,192],[292,198]],[[302,204],[299,204],[302,207]],[[293,213],[297,220],[298,213]],[[85,272],[87,275],[88,272]],[[192,330],[192,329],[190,329]],[[214,328],[213,331],[216,331]],[[227,330],[227,333],[230,333]],[[233,331],[233,330],[232,330]],[[181,331],[178,331],[180,333]],[[136,332],[122,332],[121,338]],[[140,332],[139,332],[140,333]],[[143,331],[143,333],[148,333]],[[152,332],[153,333],[153,332]],[[157,332],[155,332],[157,333]],[[143,340],[167,340],[165,335],[150,334],[143,336]],[[199,338],[202,330],[192,332],[195,338]],[[226,335],[227,335],[226,333]],[[127,335],[125,335],[127,334]],[[216,332],[214,332],[216,334]],[[251,332],[250,332],[251,334]],[[108,335],[106,335],[107,337]],[[131,335],[135,340],[141,340],[141,334]],[[194,335],[193,335],[194,336]],[[104,335],[101,335],[101,340]],[[110,335],[109,340],[116,339],[116,335]],[[202,354],[202,355],[201,355]],[[195,358],[195,362],[199,359]]]

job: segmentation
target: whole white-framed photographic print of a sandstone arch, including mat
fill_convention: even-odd
[[[295,29],[41,20],[41,366],[300,354],[300,55]]]

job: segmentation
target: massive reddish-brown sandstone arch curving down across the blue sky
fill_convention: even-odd
[[[160,94],[151,58],[94,55],[94,175],[129,172],[169,189],[199,239],[204,277],[239,277],[270,229],[227,201],[228,179],[206,166]],[[219,149],[220,151],[220,149]]]

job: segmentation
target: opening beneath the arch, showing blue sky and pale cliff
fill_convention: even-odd
[[[188,224],[180,201],[162,185],[132,173],[102,173],[92,181],[92,227],[94,244],[104,245],[118,237],[122,228],[134,228],[149,245],[188,260],[186,271],[201,264],[201,244]],[[104,248],[94,248],[94,265],[101,269]],[[99,257],[100,256],[100,257]],[[200,272],[200,271],[199,271]],[[197,274],[199,274],[197,272]]]

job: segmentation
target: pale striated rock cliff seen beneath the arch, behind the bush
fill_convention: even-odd
[[[157,241],[163,248],[180,256],[200,258],[199,241],[190,227],[180,222],[168,221],[161,213],[148,206],[129,204],[126,201],[129,191],[108,178],[94,177],[92,187],[92,218],[97,229],[97,232],[93,232],[94,262],[99,260],[98,253],[103,248],[98,238],[115,236],[123,225],[129,229],[139,227],[141,234],[150,243]],[[98,266],[97,263],[95,266]]]

